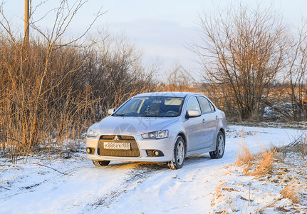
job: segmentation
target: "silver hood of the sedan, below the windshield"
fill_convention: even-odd
[[[130,134],[138,135],[151,131],[160,131],[165,126],[178,121],[178,118],[158,118],[158,117],[120,117],[108,116],[99,123],[91,126],[91,129],[102,134]]]

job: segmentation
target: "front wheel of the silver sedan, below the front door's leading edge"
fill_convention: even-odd
[[[168,162],[167,165],[170,169],[179,169],[182,168],[184,164],[184,159],[186,156],[186,148],[184,139],[181,136],[178,136],[174,146],[174,153],[172,155],[172,161]]]

